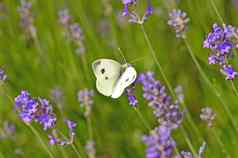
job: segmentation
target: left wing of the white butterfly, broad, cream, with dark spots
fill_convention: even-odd
[[[93,62],[92,68],[97,78],[97,90],[105,96],[111,96],[120,76],[121,64],[111,59],[98,59]]]

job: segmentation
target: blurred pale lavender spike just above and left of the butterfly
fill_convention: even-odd
[[[65,35],[76,46],[76,54],[85,53],[84,34],[80,25],[73,21],[67,9],[59,11],[59,22],[65,29]]]

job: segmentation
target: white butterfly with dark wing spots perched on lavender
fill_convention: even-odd
[[[119,98],[125,88],[135,81],[137,75],[132,66],[121,65],[111,59],[98,59],[93,62],[92,68],[97,78],[97,90],[112,98]]]

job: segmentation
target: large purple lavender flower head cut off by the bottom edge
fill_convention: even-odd
[[[147,145],[147,158],[172,157],[176,147],[170,129],[165,126],[154,129],[150,135],[143,137],[143,141]]]

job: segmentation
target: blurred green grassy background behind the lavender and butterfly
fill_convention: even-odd
[[[238,102],[229,81],[219,72],[218,67],[208,64],[209,50],[202,47],[203,40],[210,32],[213,23],[221,24],[212,6],[213,1],[226,24],[238,25],[238,2],[236,0],[153,0],[154,13],[144,23],[145,31],[156,52],[156,56],[170,82],[175,88],[183,87],[185,104],[192,116],[197,131],[183,122],[186,138],[198,150],[203,141],[208,146],[204,157],[224,158],[238,157],[238,133],[234,130],[224,107],[219,101],[222,98],[226,107],[238,122]],[[163,80],[157,65],[151,56],[141,26],[128,23],[119,14],[123,5],[119,0],[32,0],[32,14],[37,30],[37,40],[27,38],[20,25],[17,11],[21,6],[18,0],[0,1],[0,66],[8,76],[0,88],[0,129],[5,121],[16,126],[13,136],[0,140],[0,157],[49,157],[39,139],[25,125],[14,110],[13,99],[21,90],[28,90],[32,96],[49,99],[56,111],[57,127],[67,132],[63,118],[70,118],[78,123],[75,147],[82,157],[87,157],[84,150],[90,139],[87,120],[77,100],[81,89],[93,89],[94,105],[91,114],[93,140],[96,143],[98,158],[142,158],[146,146],[141,140],[148,134],[138,113],[132,108],[124,95],[111,99],[99,94],[95,89],[95,77],[91,63],[98,58],[111,58],[123,63],[120,48],[127,60],[138,71],[154,71],[156,78]],[[143,15],[146,1],[139,0],[137,12]],[[59,23],[58,13],[67,8],[74,21],[83,32],[85,53],[78,55],[75,46],[64,36],[64,29]],[[173,8],[187,12],[190,18],[187,41],[199,61],[206,76],[220,96],[207,85],[192,61],[183,40],[175,37],[168,26],[168,13]],[[236,56],[236,54],[235,54]],[[237,58],[233,65],[238,68]],[[237,80],[234,80],[238,85]],[[62,91],[63,113],[52,99],[52,90]],[[152,110],[137,89],[138,110],[147,120],[149,126],[157,126]],[[210,106],[217,114],[213,128],[207,128],[200,118],[200,110]],[[78,157],[71,146],[48,145],[47,134],[37,124],[33,124],[40,137],[53,153],[54,157]],[[190,150],[185,135],[180,130],[173,133],[178,149]]]

